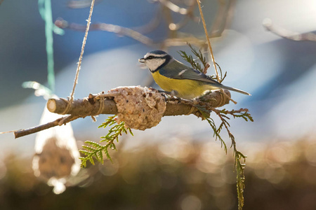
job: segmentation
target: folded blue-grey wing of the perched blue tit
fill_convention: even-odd
[[[211,79],[210,76],[176,60],[159,69],[159,73],[168,78],[199,80],[206,83],[213,83],[214,85],[221,85],[216,80]]]

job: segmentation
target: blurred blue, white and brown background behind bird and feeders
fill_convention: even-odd
[[[41,0],[40,0],[41,1]],[[37,1],[0,1],[0,132],[39,125],[46,101],[21,84],[47,84],[45,22]],[[53,1],[55,94],[68,97],[91,1]],[[230,120],[246,159],[244,209],[316,209],[316,1],[202,1],[224,84],[254,123]],[[190,42],[208,55],[195,0],[96,1],[75,98],[121,85],[155,88],[138,64],[163,49],[181,60]],[[107,24],[107,25],[104,25]],[[61,30],[61,29],[59,29]],[[209,74],[213,74],[212,66]],[[72,123],[77,145],[99,141],[107,116]],[[219,125],[219,121],[214,117]],[[230,145],[228,136],[224,140]],[[34,176],[35,134],[0,135],[1,209],[237,209],[232,150],[226,155],[209,124],[165,117],[123,136],[114,164],[81,169],[64,193]]]

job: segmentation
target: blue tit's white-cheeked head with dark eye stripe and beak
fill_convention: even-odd
[[[173,58],[168,53],[162,50],[154,50],[147,52],[143,58],[138,59],[138,62],[145,63],[147,68],[154,72],[168,64],[171,59]]]

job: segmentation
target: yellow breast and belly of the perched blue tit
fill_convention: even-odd
[[[175,90],[178,92],[176,97],[183,99],[194,99],[195,97],[202,96],[206,90],[211,90],[209,85],[198,80],[189,79],[173,79],[162,76],[159,71],[152,73],[154,81],[162,87],[163,90],[171,92]]]

